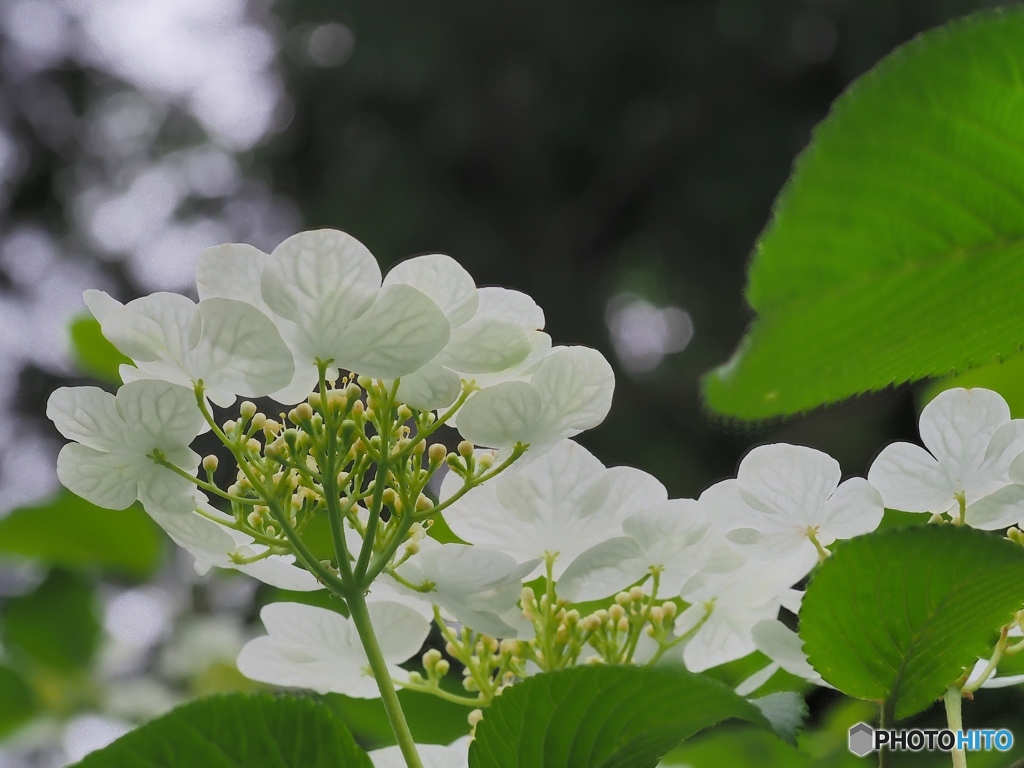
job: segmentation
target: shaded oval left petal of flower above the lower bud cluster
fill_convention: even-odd
[[[643,550],[628,537],[610,539],[579,555],[558,579],[558,596],[589,602],[621,592],[647,573]]]

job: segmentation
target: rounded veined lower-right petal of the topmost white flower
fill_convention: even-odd
[[[340,368],[375,379],[411,374],[444,348],[451,328],[438,306],[410,286],[389,286],[333,340]]]

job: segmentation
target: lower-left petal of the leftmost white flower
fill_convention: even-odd
[[[141,462],[148,461],[69,442],[57,455],[57,477],[66,488],[97,507],[125,509],[138,498]]]

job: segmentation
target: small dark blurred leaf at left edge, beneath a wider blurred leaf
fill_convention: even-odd
[[[15,658],[55,672],[87,668],[100,640],[93,586],[54,570],[35,591],[7,601],[0,642]]]

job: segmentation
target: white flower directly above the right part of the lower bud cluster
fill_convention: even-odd
[[[683,585],[708,565],[717,552],[714,526],[692,499],[650,504],[629,515],[622,532],[577,557],[558,581],[558,594],[573,602],[607,597],[660,570],[658,595],[675,596]],[[732,554],[732,551],[729,550]],[[715,567],[738,567],[733,556]]]

